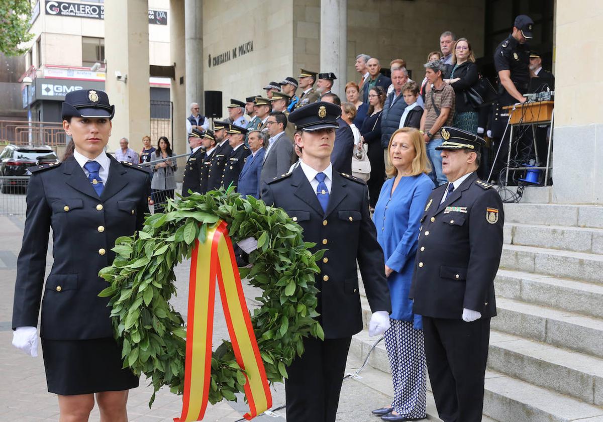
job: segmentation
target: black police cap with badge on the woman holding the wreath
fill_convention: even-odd
[[[115,106],[109,104],[106,92],[94,89],[82,89],[65,95],[62,107],[63,120],[72,117],[113,119]]]

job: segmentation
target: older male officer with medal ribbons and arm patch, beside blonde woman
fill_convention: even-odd
[[[423,315],[440,418],[479,422],[504,214],[498,192],[475,173],[484,140],[452,127],[440,133],[436,149],[449,183],[434,189],[421,217],[410,297]]]

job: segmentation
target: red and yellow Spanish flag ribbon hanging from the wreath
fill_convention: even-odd
[[[180,418],[175,422],[203,420],[212,371],[213,304],[216,278],[236,362],[245,371],[244,385],[251,420],[272,406],[264,363],[257,347],[251,318],[236,265],[227,224],[219,221],[207,230],[204,243],[195,240],[189,277],[186,326],[185,389]]]

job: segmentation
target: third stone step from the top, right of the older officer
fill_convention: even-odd
[[[500,268],[603,285],[603,256],[522,245],[504,245]]]

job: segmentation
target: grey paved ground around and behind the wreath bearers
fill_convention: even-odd
[[[1,195],[0,195],[1,196]],[[19,199],[17,199],[19,201]],[[0,215],[2,203],[0,198]],[[16,257],[21,247],[24,218],[22,216],[0,216],[0,421],[29,421],[44,420],[58,421],[57,399],[46,390],[42,357],[32,358],[11,346],[11,312],[13,304],[14,280],[16,277]],[[48,270],[52,263],[52,251],[49,248]],[[176,269],[179,295],[174,298],[174,306],[186,314],[186,297],[188,294],[189,262],[183,262]],[[247,303],[253,306],[253,298],[257,292],[250,286],[245,286]],[[216,301],[216,326],[213,341],[217,346],[223,338],[228,338],[224,324],[223,311],[219,298]],[[186,320],[186,316],[185,316]],[[353,372],[359,367],[359,362],[350,359],[347,371]],[[367,369],[362,373],[364,380],[370,380],[374,370]],[[381,382],[381,381],[379,381]],[[370,409],[387,404],[391,398],[382,392],[368,386],[370,383],[349,379],[344,382],[339,402],[338,421],[358,422],[377,421],[370,417]],[[182,398],[162,389],[157,394],[153,409],[147,406],[152,389],[141,379],[140,387],[130,392],[128,400],[128,415],[131,421],[172,421],[180,414]],[[380,385],[383,391],[384,386]],[[385,391],[389,391],[386,386]],[[274,408],[285,403],[282,384],[273,388]],[[224,402],[210,406],[204,421],[238,421],[247,411],[244,401],[238,403]],[[93,411],[92,421],[98,421],[98,409]],[[261,415],[257,421],[285,421],[285,412],[276,411],[274,415]]]

